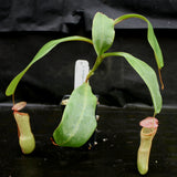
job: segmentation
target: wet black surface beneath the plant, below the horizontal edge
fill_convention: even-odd
[[[61,110],[28,106],[37,140],[31,155],[21,153],[17,125],[8,106],[0,107],[0,177],[136,177],[138,122],[153,114],[145,108],[98,107],[97,145],[92,150],[52,145]],[[177,112],[164,108],[153,142],[148,177],[177,176]]]

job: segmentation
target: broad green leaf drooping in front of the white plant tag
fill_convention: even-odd
[[[97,98],[87,83],[73,91],[62,121],[53,133],[58,145],[80,147],[88,140],[96,128],[96,103]]]

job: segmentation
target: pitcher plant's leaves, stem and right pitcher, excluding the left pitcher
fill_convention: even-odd
[[[140,14],[124,14],[113,20],[107,15],[97,12],[93,19],[92,39],[74,35],[48,42],[39,50],[29,65],[11,81],[7,87],[6,94],[7,96],[12,95],[14,100],[15,88],[25,72],[58,44],[69,41],[81,41],[92,44],[97,55],[95,63],[92,70],[88,72],[85,82],[72,92],[63,112],[62,119],[53,133],[54,142],[59,146],[80,147],[87,142],[97,126],[97,122],[95,119],[97,98],[92,93],[92,87],[88,83],[88,80],[92,75],[94,75],[94,72],[105,59],[110,60],[113,56],[117,56],[118,60],[125,59],[147,85],[154,105],[153,117],[140,123],[143,128],[140,132],[140,146],[138,149],[137,167],[139,173],[144,175],[148,170],[148,158],[152,140],[157,131],[157,126],[155,126],[157,124],[155,116],[156,114],[160,113],[163,104],[158,80],[155,71],[148,64],[133,56],[132,54],[126,52],[107,52],[114,42],[114,27],[123,20],[131,18],[138,18],[147,23],[147,40],[154,51],[155,60],[159,71],[159,81],[162,83],[162,87],[164,87],[160,76],[160,69],[164,66],[164,60],[152,23]],[[150,126],[148,124],[149,122],[152,122]]]

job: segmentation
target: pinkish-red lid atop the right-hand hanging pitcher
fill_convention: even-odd
[[[158,119],[155,117],[147,117],[139,122],[139,125],[146,128],[157,128]]]

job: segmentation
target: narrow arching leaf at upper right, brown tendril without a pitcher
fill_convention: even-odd
[[[115,19],[114,23],[117,24],[121,21],[129,19],[129,18],[138,18],[138,19],[142,19],[145,22],[147,22],[147,25],[148,25],[147,40],[148,40],[148,43],[150,44],[152,49],[154,50],[157,66],[158,66],[158,69],[162,69],[164,66],[163,53],[162,53],[162,50],[159,48],[156,35],[154,33],[153,25],[144,15],[140,15],[140,14],[124,14],[124,15]]]

